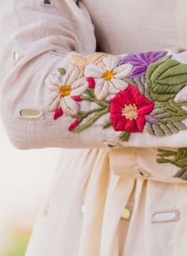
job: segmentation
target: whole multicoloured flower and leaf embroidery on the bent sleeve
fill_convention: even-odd
[[[177,94],[187,85],[187,64],[168,52],[119,55],[71,55],[46,79],[51,91],[48,109],[54,120],[70,115],[69,131],[82,132],[103,115],[102,128],[116,131],[120,141],[134,132],[169,136],[186,130],[187,101]],[[93,103],[85,109],[87,103]]]

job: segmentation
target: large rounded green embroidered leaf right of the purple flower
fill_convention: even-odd
[[[166,59],[152,63],[146,72],[153,101],[166,102],[187,84],[187,64],[175,59]]]

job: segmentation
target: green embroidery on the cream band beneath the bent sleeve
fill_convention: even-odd
[[[177,151],[158,149],[158,163],[170,163],[180,168],[174,178],[187,181],[187,147],[178,147]]]

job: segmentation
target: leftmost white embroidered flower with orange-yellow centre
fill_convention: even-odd
[[[88,88],[86,78],[78,79],[79,71],[77,67],[71,67],[65,75],[59,72],[52,73],[45,80],[45,86],[52,91],[48,97],[47,107],[49,111],[55,111],[59,107],[63,113],[76,115],[79,105],[74,101],[74,96],[83,94]]]

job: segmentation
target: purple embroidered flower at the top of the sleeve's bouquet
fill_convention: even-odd
[[[147,67],[151,63],[155,63],[155,61],[157,61],[158,59],[161,59],[166,54],[166,51],[136,52],[126,55],[123,59],[120,60],[120,63],[118,63],[118,65],[122,65],[124,63],[131,63],[133,65],[133,70],[132,73],[128,75],[128,78],[135,78],[139,75],[140,81],[144,84]]]

